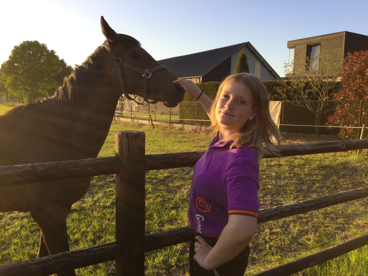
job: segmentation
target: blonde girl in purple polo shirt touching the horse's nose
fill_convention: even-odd
[[[266,88],[254,75],[230,75],[212,102],[192,81],[174,83],[201,103],[215,135],[193,171],[188,208],[194,230],[190,275],[243,276],[257,224],[262,143],[277,154],[272,136],[278,144],[281,140],[270,116]]]

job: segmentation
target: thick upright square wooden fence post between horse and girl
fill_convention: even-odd
[[[117,276],[144,276],[145,133],[119,131],[115,150],[123,161],[116,175],[116,241],[123,254]]]

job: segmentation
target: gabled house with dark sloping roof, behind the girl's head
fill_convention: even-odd
[[[171,57],[159,60],[158,63],[166,66],[177,78],[191,79],[194,83],[222,81],[227,75],[234,74],[241,50],[247,54],[251,74],[256,75],[261,81],[275,81],[280,78],[250,42]]]

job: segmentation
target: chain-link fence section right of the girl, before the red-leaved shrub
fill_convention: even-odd
[[[279,129],[284,139],[359,139],[368,127],[367,100],[282,101]]]

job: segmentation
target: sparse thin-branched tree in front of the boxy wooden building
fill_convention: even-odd
[[[285,73],[289,81],[282,81],[276,88],[280,98],[291,100],[294,105],[308,109],[315,116],[315,125],[321,118],[332,112],[330,100],[340,88],[340,74],[343,57],[330,50],[315,57],[306,57],[305,70],[290,73],[293,63],[285,63]],[[315,132],[319,134],[318,127]]]

